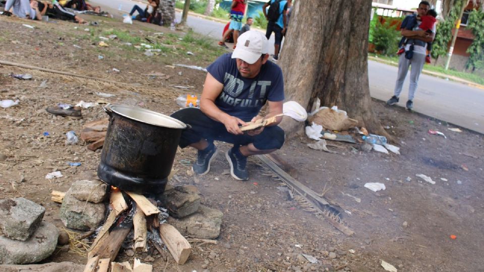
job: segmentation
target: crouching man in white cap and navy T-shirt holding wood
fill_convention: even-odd
[[[269,41],[263,33],[250,30],[240,35],[233,53],[220,56],[207,67],[207,77],[200,99],[200,109],[185,108],[171,117],[190,124],[181,133],[180,148],[198,150],[192,166],[196,174],[210,171],[217,154],[214,141],[233,144],[225,153],[230,174],[248,180],[247,157],[267,154],[284,144],[282,120],[244,133],[240,125],[262,119],[260,110],[268,102],[266,118],[282,114],[284,80],[280,67],[269,61]]]

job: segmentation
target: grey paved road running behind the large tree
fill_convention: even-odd
[[[90,0],[111,9],[120,8],[128,13],[137,2],[131,0]],[[139,4],[139,3],[138,3]],[[145,5],[139,4],[143,8]],[[176,14],[180,21],[181,15]],[[219,39],[224,24],[189,16],[188,26],[197,33]],[[274,44],[274,35],[270,44]],[[271,47],[271,53],[274,48]],[[387,100],[393,95],[397,67],[376,61],[368,61],[370,92],[372,97]],[[409,75],[408,75],[409,76]],[[398,105],[404,106],[408,94],[408,79],[403,86],[403,92]],[[469,87],[460,83],[450,82],[432,76],[421,75],[417,93],[414,99],[414,110],[450,123],[484,133],[484,90]]]

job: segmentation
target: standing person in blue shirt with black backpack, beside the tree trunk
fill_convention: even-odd
[[[264,16],[268,21],[266,38],[269,39],[272,35],[272,32],[274,32],[275,35],[273,57],[275,60],[279,59],[279,48],[282,42],[282,35],[286,32],[286,10],[288,5],[287,3],[287,0],[269,0],[269,2],[262,6],[262,12],[264,13]],[[269,7],[269,10],[266,12],[267,7]]]

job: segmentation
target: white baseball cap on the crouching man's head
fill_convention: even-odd
[[[269,53],[269,41],[257,30],[249,30],[237,39],[232,58],[240,58],[249,64],[255,63],[262,54]]]

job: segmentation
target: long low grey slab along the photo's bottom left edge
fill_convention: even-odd
[[[43,264],[29,264],[29,265],[0,265],[2,272],[80,272],[84,270],[84,264],[76,264],[72,261],[63,262],[48,262]]]

